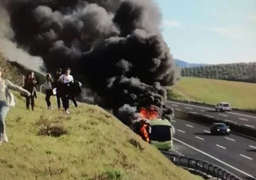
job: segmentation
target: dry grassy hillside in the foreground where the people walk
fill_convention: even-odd
[[[2,63],[6,75],[14,73]],[[16,72],[13,79],[19,78]],[[14,95],[17,105],[6,121],[9,142],[0,146],[1,179],[202,180],[173,165],[97,106],[79,103],[66,115],[56,108],[47,110],[45,96],[38,93],[33,112],[19,93]],[[55,98],[51,100],[56,107]]]

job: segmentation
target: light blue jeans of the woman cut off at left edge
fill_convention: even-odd
[[[0,101],[0,142],[3,141],[3,136],[6,137],[6,126],[5,126],[5,118],[9,111],[9,107],[7,106],[7,101]],[[7,138],[7,137],[6,137]]]

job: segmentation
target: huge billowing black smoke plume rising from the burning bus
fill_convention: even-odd
[[[167,92],[180,70],[150,0],[0,0],[9,13],[13,41],[41,56],[48,71],[70,67],[98,104],[126,125],[138,108],[154,105],[170,119]],[[84,94],[87,90],[85,90]]]

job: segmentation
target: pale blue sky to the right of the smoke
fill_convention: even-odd
[[[256,62],[256,0],[156,0],[175,59]]]

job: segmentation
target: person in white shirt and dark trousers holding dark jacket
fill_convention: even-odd
[[[74,78],[72,75],[70,75],[70,73],[71,73],[71,69],[67,68],[65,71],[65,74],[61,74],[58,79],[58,81],[61,82],[63,85],[62,87],[63,93],[61,95],[61,100],[67,114],[70,114],[69,113],[69,86],[71,83],[74,83]]]

